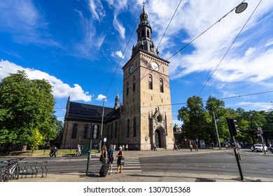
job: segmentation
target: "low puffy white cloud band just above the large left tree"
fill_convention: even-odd
[[[70,95],[72,101],[83,100],[84,102],[90,102],[92,96],[89,92],[85,92],[82,87],[78,84],[74,84],[73,87],[70,87],[68,84],[63,83],[62,80],[59,80],[55,76],[50,76],[48,73],[43,71],[23,68],[7,60],[1,60],[0,62],[0,80],[6,78],[9,73],[17,73],[18,70],[25,70],[29,79],[45,79],[48,80],[50,85],[52,85],[52,92],[55,98],[66,98]]]

